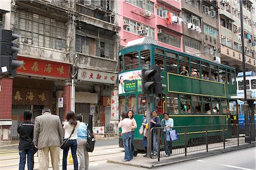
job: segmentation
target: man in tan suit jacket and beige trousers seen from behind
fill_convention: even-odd
[[[39,169],[49,167],[49,151],[51,153],[52,169],[60,169],[60,145],[63,142],[63,128],[60,117],[51,114],[51,110],[44,108],[42,115],[35,118],[34,143],[38,148]]]

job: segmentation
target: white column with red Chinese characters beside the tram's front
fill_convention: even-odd
[[[118,133],[118,86],[114,86],[114,89],[111,92],[111,117],[110,124],[114,125],[113,133]]]

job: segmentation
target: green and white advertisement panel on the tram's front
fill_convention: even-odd
[[[141,88],[141,70],[127,71],[118,75],[118,93],[127,94],[131,92],[139,92]]]

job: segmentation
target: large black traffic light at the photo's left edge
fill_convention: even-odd
[[[18,38],[19,36],[13,34],[11,30],[0,30],[0,74],[2,75],[16,76],[16,69],[23,64],[23,61],[16,60],[19,47],[12,42]]]

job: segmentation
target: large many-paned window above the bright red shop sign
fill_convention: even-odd
[[[22,10],[16,11],[15,22],[14,31],[32,44],[59,50],[66,48],[67,27],[64,22]]]

